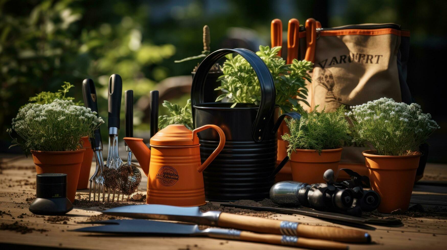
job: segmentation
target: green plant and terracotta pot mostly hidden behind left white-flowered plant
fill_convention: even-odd
[[[42,91],[36,96],[30,97],[29,101],[31,103],[36,104],[50,104],[54,100],[75,100],[74,97],[67,96],[67,93],[70,91],[70,88],[75,87],[71,83],[63,82],[63,85],[61,86],[62,89],[59,89],[57,92],[49,92],[49,91]],[[81,101],[74,102],[75,105],[80,106],[82,105]],[[79,174],[79,181],[77,189],[85,189],[88,187],[89,183],[89,177],[90,177],[90,168],[92,167],[92,159],[93,159],[93,150],[89,141],[89,131],[85,130],[82,133],[81,137],[81,144],[82,148],[85,149],[84,151],[84,158],[82,160],[81,170]]]

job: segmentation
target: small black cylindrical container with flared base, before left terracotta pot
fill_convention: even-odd
[[[66,174],[36,175],[36,197],[30,205],[30,212],[34,214],[61,215],[73,208],[67,198]]]

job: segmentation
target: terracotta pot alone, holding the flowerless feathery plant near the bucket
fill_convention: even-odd
[[[290,156],[290,166],[294,181],[308,184],[325,183],[323,174],[329,168],[337,172],[342,158],[342,148],[322,150],[296,149]]]

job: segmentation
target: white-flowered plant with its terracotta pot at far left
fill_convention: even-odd
[[[13,119],[12,146],[21,146],[33,161],[38,174],[67,174],[67,198],[75,199],[84,151],[81,137],[104,123],[90,108],[77,106],[72,100],[56,99],[50,104],[27,104]],[[14,134],[13,134],[14,133]]]

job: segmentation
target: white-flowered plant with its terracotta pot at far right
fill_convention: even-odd
[[[369,142],[375,150],[363,151],[371,188],[381,196],[379,212],[408,209],[421,153],[438,124],[418,104],[380,98],[351,107],[354,140]]]

